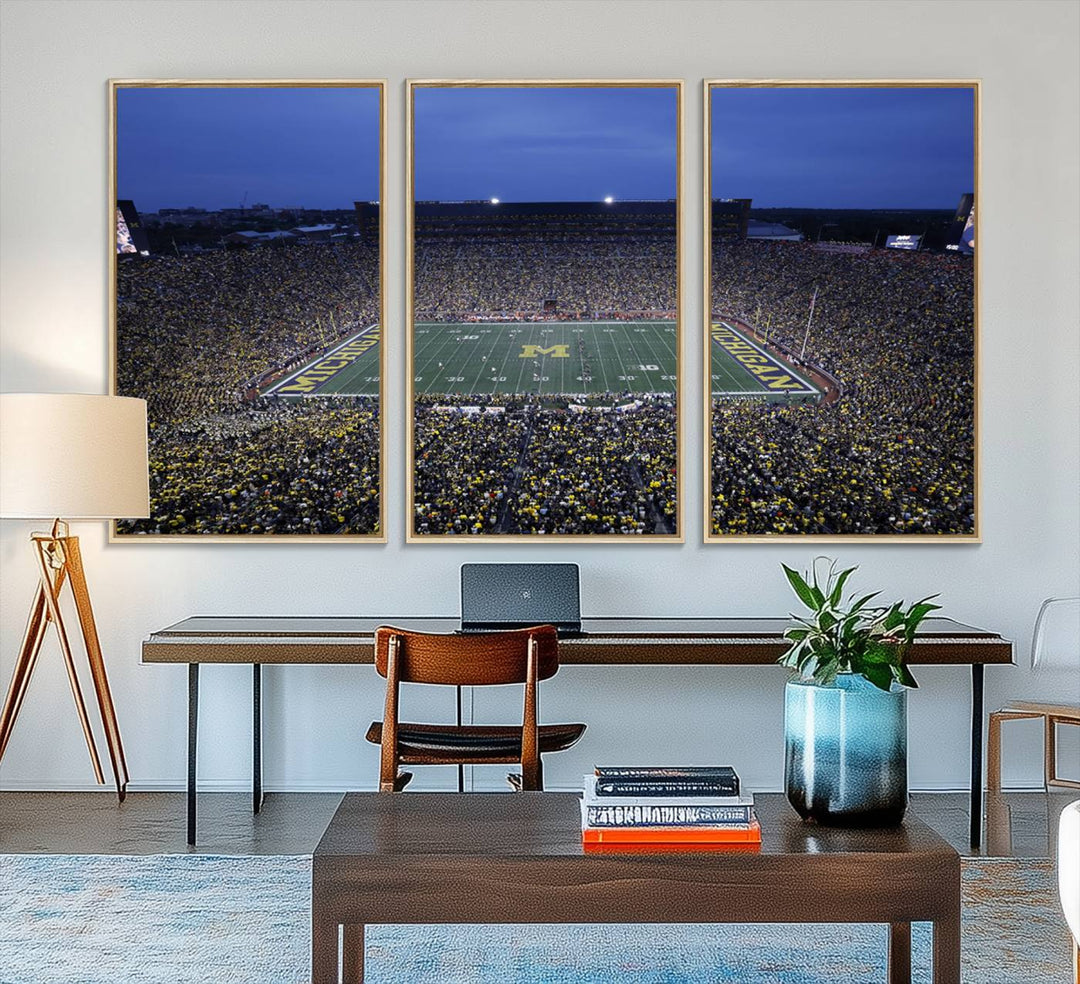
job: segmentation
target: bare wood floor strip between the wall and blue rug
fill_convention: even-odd
[[[987,794],[989,823],[974,852],[967,793],[913,793],[910,809],[961,854],[1051,858],[1057,818],[1075,798],[1072,791]],[[0,853],[310,854],[340,800],[339,793],[271,793],[253,815],[248,793],[200,793],[192,849],[183,793],[130,793],[121,805],[107,792],[0,792]]]

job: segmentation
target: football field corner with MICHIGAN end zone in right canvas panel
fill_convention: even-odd
[[[799,402],[821,396],[809,379],[728,322],[714,322],[711,337],[713,396]]]

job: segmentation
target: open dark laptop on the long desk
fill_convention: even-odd
[[[581,635],[577,564],[462,564],[461,632],[554,625]]]

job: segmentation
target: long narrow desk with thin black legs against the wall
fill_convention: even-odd
[[[251,663],[252,797],[262,801],[262,665],[375,660],[375,629],[400,625],[453,632],[457,618],[410,616],[195,616],[151,634],[144,663],[188,664],[188,844],[195,843],[195,760],[200,663]],[[787,648],[785,618],[588,618],[582,635],[559,643],[563,665],[767,665]],[[971,843],[982,836],[983,669],[1012,663],[1012,643],[953,619],[927,619],[908,656],[912,665],[971,666]]]

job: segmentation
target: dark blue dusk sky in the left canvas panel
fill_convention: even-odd
[[[117,197],[140,212],[379,198],[379,91],[121,89]]]

